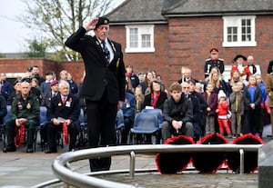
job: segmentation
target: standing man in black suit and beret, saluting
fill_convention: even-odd
[[[116,144],[116,112],[125,99],[125,65],[121,45],[108,39],[109,20],[99,17],[80,27],[66,40],[86,66],[81,96],[86,99],[89,147]],[[94,30],[95,36],[86,35]],[[111,158],[90,159],[92,172],[108,170]]]

